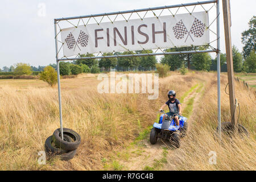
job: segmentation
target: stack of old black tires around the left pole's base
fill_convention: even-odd
[[[69,160],[76,155],[80,143],[81,137],[76,131],[63,128],[63,139],[60,129],[57,129],[46,139],[44,147],[48,156],[59,155],[61,160]]]

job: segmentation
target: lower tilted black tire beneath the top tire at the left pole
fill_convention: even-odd
[[[64,138],[64,140],[71,140],[70,137],[65,136],[65,135],[63,136],[63,138]],[[55,143],[52,140],[52,136],[49,136],[46,139],[46,142],[44,143],[44,148],[46,149],[47,154],[60,155],[60,154],[65,154],[68,152],[67,150],[63,150],[63,148],[56,147]]]

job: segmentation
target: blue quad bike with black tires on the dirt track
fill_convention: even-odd
[[[160,115],[159,123],[154,123],[150,132],[150,143],[155,144],[158,138],[163,140],[170,140],[171,144],[176,148],[180,147],[180,138],[185,137],[188,130],[188,123],[186,117],[180,116],[180,125],[176,126],[175,118],[168,116],[164,111]],[[163,120],[163,117],[164,120]]]

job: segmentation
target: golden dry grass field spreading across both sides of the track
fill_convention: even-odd
[[[159,80],[159,98],[147,94],[100,94],[97,75],[83,74],[61,80],[63,126],[77,131],[82,141],[77,155],[68,162],[59,158],[38,164],[44,141],[59,128],[57,85],[50,88],[40,80],[0,80],[0,169],[1,170],[104,170],[140,166],[133,158],[151,163],[159,148],[149,146],[147,158],[138,141],[148,140],[148,129],[157,120],[159,107],[174,89],[187,107],[191,131],[177,150],[159,153],[159,160],[135,169],[164,170],[255,170],[255,92],[236,84],[241,106],[240,123],[250,138],[223,139],[217,127],[217,74],[171,72]],[[222,121],[230,121],[229,96],[224,88],[228,79],[221,75]],[[203,86],[202,86],[203,85]],[[195,103],[197,102],[197,105]],[[200,103],[200,104],[198,104]],[[137,142],[134,142],[137,139]],[[132,147],[131,147],[132,146]],[[135,147],[135,152],[128,148]],[[162,148],[160,148],[162,150]],[[126,151],[126,152],[124,152]],[[217,151],[217,165],[208,164],[209,151]],[[168,155],[167,155],[168,153]],[[182,155],[181,155],[182,154]],[[150,156],[148,156],[150,155]],[[162,156],[163,155],[163,156]],[[120,157],[121,156],[121,157]],[[126,163],[121,164],[121,159]],[[160,165],[160,166],[159,166]]]

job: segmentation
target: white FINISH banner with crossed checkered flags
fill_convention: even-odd
[[[208,26],[203,11],[70,27],[61,30],[61,39],[64,56],[203,46],[209,43]]]

